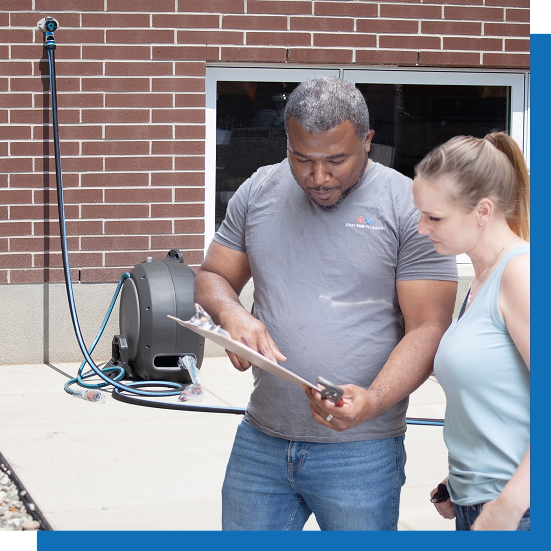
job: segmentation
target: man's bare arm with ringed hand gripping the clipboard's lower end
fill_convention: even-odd
[[[374,419],[409,396],[433,371],[436,349],[452,320],[457,283],[408,280],[397,282],[396,289],[406,333],[369,388],[342,385],[342,407],[305,390],[314,419],[321,424],[340,431]],[[329,413],[331,423],[325,420]]]

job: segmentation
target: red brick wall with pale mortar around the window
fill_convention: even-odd
[[[208,63],[530,66],[530,0],[2,0],[0,284],[63,280],[46,15],[82,282],[201,262]]]

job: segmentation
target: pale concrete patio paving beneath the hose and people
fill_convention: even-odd
[[[55,531],[220,530],[220,488],[240,414],[90,403],[64,383],[79,364],[0,366],[0,451]],[[205,358],[202,404],[244,408],[251,372]],[[176,397],[165,398],[176,403]],[[444,417],[431,377],[408,417]],[[429,491],[446,473],[442,427],[408,425],[399,530],[447,531]],[[319,530],[312,516],[306,530]]]

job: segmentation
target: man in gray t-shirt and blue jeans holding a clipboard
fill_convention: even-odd
[[[306,390],[310,406],[298,386],[253,368],[222,527],[301,530],[314,512],[322,530],[397,530],[408,395],[451,322],[455,257],[418,235],[411,180],[369,159],[374,131],[352,84],[306,80],[284,117],[287,159],[231,199],[195,300],[302,378],[352,384],[342,407]],[[239,302],[251,277],[252,315]]]

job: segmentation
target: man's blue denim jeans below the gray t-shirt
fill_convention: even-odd
[[[397,530],[404,437],[339,444],[268,436],[245,419],[222,487],[222,530]]]

